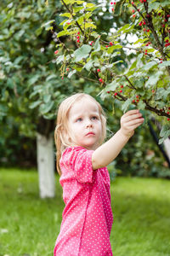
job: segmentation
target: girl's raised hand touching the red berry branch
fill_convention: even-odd
[[[126,137],[132,137],[134,129],[142,125],[143,122],[144,118],[142,118],[142,114],[139,113],[139,109],[129,110],[122,115],[120,130]]]

